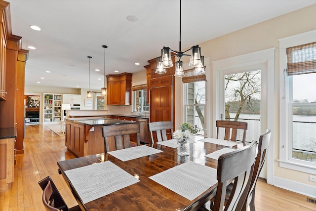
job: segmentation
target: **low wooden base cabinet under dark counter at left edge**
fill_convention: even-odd
[[[0,139],[0,192],[8,190],[14,179],[15,138]]]

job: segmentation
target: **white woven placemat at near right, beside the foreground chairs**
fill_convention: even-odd
[[[216,175],[216,169],[189,161],[149,178],[189,200],[194,200],[217,183]]]

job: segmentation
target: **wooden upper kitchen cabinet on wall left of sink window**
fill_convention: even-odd
[[[132,74],[107,75],[107,104],[131,105]]]

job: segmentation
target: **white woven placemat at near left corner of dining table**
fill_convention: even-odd
[[[84,204],[140,181],[110,161],[66,170],[65,174]]]

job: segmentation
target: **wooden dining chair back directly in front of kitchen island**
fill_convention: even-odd
[[[140,125],[139,124],[120,124],[102,127],[102,136],[104,138],[104,150],[110,152],[130,147],[130,134],[137,134],[137,146],[140,145]],[[114,137],[114,142],[109,140]],[[112,144],[114,143],[114,144]]]

